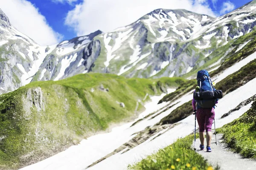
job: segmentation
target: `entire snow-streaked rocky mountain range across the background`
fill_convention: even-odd
[[[4,93],[31,81],[87,72],[190,79],[199,68],[213,71],[228,57],[237,38],[253,31],[256,4],[252,1],[218,18],[157,9],[114,31],[96,31],[48,47],[17,31],[3,11],[0,16],[0,91]],[[221,51],[225,53],[220,55]]]

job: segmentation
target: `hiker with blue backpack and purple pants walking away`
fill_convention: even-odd
[[[215,88],[212,85],[212,81],[210,79],[209,73],[207,70],[198,71],[197,75],[198,86],[196,87],[196,91],[215,91]],[[211,140],[212,140],[212,122],[215,118],[215,104],[218,103],[218,99],[212,99],[213,104],[209,104],[210,100],[195,100],[193,97],[192,106],[193,111],[196,113],[196,118],[199,125],[199,137],[200,137],[200,149],[204,150],[204,131],[206,131],[206,141],[207,141],[207,152],[212,152],[211,150]],[[206,108],[203,108],[204,102],[208,102],[205,105]],[[197,104],[197,105],[196,105]],[[200,104],[200,105],[199,105]],[[212,106],[213,105],[213,106]],[[208,107],[208,108],[207,108]]]

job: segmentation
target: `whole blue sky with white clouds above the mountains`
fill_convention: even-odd
[[[112,31],[157,8],[184,8],[218,17],[251,0],[5,0],[0,8],[40,45]]]

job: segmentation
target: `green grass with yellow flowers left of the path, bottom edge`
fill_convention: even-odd
[[[193,135],[178,139],[174,144],[159,150],[135,165],[129,165],[128,168],[131,170],[212,170],[211,165],[192,150],[193,139]]]

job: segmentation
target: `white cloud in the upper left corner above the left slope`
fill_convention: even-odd
[[[40,14],[38,8],[27,0],[1,0],[0,8],[10,23],[40,45],[58,43],[62,36],[55,32]]]

